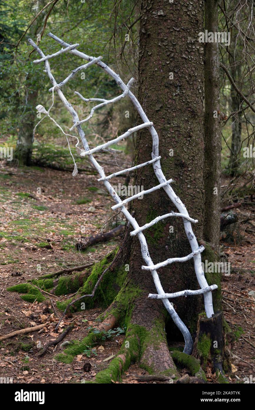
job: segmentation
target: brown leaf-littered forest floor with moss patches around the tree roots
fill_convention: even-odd
[[[110,173],[107,166],[105,171],[106,175]],[[0,335],[50,321],[40,333],[0,342],[0,377],[12,377],[13,383],[81,383],[93,380],[98,369],[117,353],[124,339],[120,329],[119,335],[116,333],[117,336],[106,338],[93,349],[88,348],[70,364],[54,360],[54,355],[62,351],[60,344],[38,357],[38,347],[59,336],[54,327],[62,312],[56,309],[56,314],[47,313],[45,302],[29,303],[18,293],[7,291],[9,286],[46,273],[96,262],[113,250],[120,237],[82,253],[75,249],[81,236],[99,232],[109,218],[110,205],[111,198],[95,175],[78,173],[74,180],[70,172],[0,164]],[[224,244],[223,250],[233,270],[229,276],[223,276],[222,289],[224,315],[233,335],[232,370],[227,378],[230,383],[243,383],[245,377],[255,374],[255,298],[248,295],[255,290],[255,207],[245,207],[249,217],[242,215],[242,209],[235,212],[243,220],[242,239],[237,244]],[[106,231],[114,227],[115,219],[116,216],[106,223]],[[11,276],[16,271],[22,276]],[[56,307],[56,301],[69,297],[52,295],[51,298]],[[59,332],[74,322],[65,340],[81,340],[100,312],[99,308],[76,312],[72,318],[64,318]],[[83,370],[86,360],[92,364],[90,372]],[[187,370],[183,369],[183,373]],[[141,383],[136,377],[142,374],[147,372],[136,364],[131,365],[122,383]],[[208,383],[218,383],[210,368],[206,374]]]

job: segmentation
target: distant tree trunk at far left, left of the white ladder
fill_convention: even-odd
[[[20,165],[30,165],[32,157],[33,129],[36,118],[37,91],[27,90],[26,107],[19,119],[18,141],[14,158]],[[39,120],[38,120],[39,121]]]

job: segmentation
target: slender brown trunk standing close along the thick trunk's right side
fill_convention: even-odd
[[[217,0],[205,1],[205,30],[218,31]],[[221,212],[221,126],[219,113],[219,47],[205,43],[205,216],[204,239],[219,251]]]

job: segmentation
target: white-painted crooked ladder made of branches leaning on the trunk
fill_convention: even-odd
[[[217,285],[208,286],[208,283],[205,279],[205,275],[204,275],[204,272],[203,272],[203,269],[202,269],[201,252],[203,252],[204,247],[198,245],[196,237],[195,237],[195,235],[192,231],[192,226],[191,226],[191,223],[196,223],[198,221],[195,220],[195,219],[190,218],[185,206],[181,202],[181,199],[178,198],[178,196],[176,196],[176,194],[174,193],[174,191],[173,191],[173,189],[170,185],[171,182],[172,182],[172,179],[167,180],[165,178],[165,175],[162,173],[161,166],[160,166],[160,158],[161,157],[159,156],[159,153],[158,153],[158,134],[157,134],[155,128],[153,127],[153,123],[151,121],[149,121],[146,114],[144,113],[140,103],[138,102],[138,100],[135,98],[135,96],[130,91],[131,84],[133,84],[133,81],[134,81],[133,78],[131,78],[131,80],[128,82],[128,84],[125,85],[124,82],[121,80],[120,76],[117,75],[113,70],[111,70],[111,68],[109,68],[106,64],[104,64],[101,61],[101,59],[102,59],[101,56],[97,57],[97,58],[90,57],[90,56],[84,54],[83,52],[80,52],[80,51],[77,50],[77,47],[79,46],[79,44],[70,45],[68,43],[65,43],[64,41],[62,41],[58,37],[54,36],[54,34],[52,34],[52,33],[49,33],[48,35],[50,37],[52,37],[52,39],[54,39],[58,43],[60,43],[63,48],[61,48],[61,50],[59,50],[58,52],[56,52],[52,55],[45,56],[43,54],[43,52],[41,51],[41,49],[38,48],[38,46],[36,46],[34,41],[32,41],[32,39],[29,39],[28,40],[29,43],[34,47],[34,49],[41,56],[41,59],[35,60],[34,63],[44,62],[45,72],[49,76],[50,81],[52,82],[52,85],[53,85],[53,87],[50,88],[50,90],[49,90],[49,91],[52,91],[52,98],[54,98],[54,91],[56,91],[57,94],[59,95],[59,98],[63,102],[63,104],[65,105],[65,107],[68,109],[68,111],[72,115],[74,125],[70,128],[70,131],[73,128],[77,127],[77,130],[79,132],[79,136],[81,138],[81,141],[82,141],[83,147],[84,147],[84,150],[81,150],[81,156],[84,156],[84,157],[88,156],[88,159],[93,164],[93,166],[95,166],[95,168],[97,169],[97,171],[100,175],[100,178],[98,179],[98,181],[103,182],[104,186],[106,187],[106,189],[109,191],[112,198],[116,202],[116,205],[112,206],[112,209],[113,210],[115,210],[117,208],[121,209],[122,213],[126,216],[126,219],[133,226],[133,231],[131,232],[131,235],[132,236],[135,236],[135,235],[138,236],[138,239],[139,239],[140,244],[141,244],[142,257],[143,257],[144,262],[145,262],[145,265],[142,266],[142,269],[148,270],[148,271],[151,272],[151,275],[153,277],[153,281],[154,281],[154,284],[155,284],[155,287],[156,287],[156,290],[157,290],[156,294],[149,294],[149,298],[162,299],[162,303],[165,305],[165,308],[169,312],[169,314],[172,317],[174,323],[179,328],[179,330],[181,330],[181,332],[183,334],[183,337],[184,337],[184,340],[185,340],[184,352],[187,353],[187,354],[191,354],[192,349],[193,349],[192,337],[190,335],[189,330],[187,329],[187,327],[185,326],[183,321],[180,319],[180,317],[178,316],[178,314],[174,310],[173,305],[169,302],[169,299],[170,298],[176,298],[178,296],[189,296],[189,295],[203,294],[204,304],[205,304],[205,312],[207,314],[207,317],[211,317],[212,314],[214,313],[213,312],[213,306],[212,306],[212,293],[211,293],[211,291],[214,290],[214,289],[217,289]],[[48,60],[53,58],[53,57],[56,57],[56,56],[60,55],[63,52],[70,52],[71,54],[74,54],[74,55],[76,55],[78,57],[81,57],[82,59],[88,61],[88,63],[83,64],[83,65],[75,68],[74,70],[72,70],[70,75],[68,75],[68,77],[65,78],[65,80],[63,80],[60,83],[57,83],[54,76],[51,73],[50,64],[49,64]],[[62,93],[61,87],[64,84],[66,84],[72,77],[74,77],[74,75],[77,72],[79,72],[81,70],[85,70],[86,68],[88,68],[88,66],[90,66],[92,64],[97,64],[99,67],[103,68],[104,71],[106,71],[106,73],[108,73],[117,82],[117,84],[120,86],[120,88],[122,89],[122,94],[120,96],[117,96],[117,97],[111,99],[111,100],[104,100],[102,98],[101,99],[99,99],[99,98],[83,98],[83,96],[81,96],[80,93],[76,92],[76,94],[84,101],[97,101],[97,102],[99,102],[98,105],[93,107],[93,109],[90,112],[90,115],[86,119],[80,121],[77,112],[74,110],[72,105],[68,102],[68,100],[66,100],[64,94]],[[90,118],[92,118],[92,116],[93,116],[93,114],[94,114],[94,112],[97,108],[103,107],[104,105],[108,105],[108,104],[111,104],[111,103],[115,103],[116,101],[120,100],[121,98],[124,98],[125,96],[128,96],[131,99],[133,105],[135,106],[135,109],[137,109],[138,113],[140,114],[140,117],[141,117],[143,123],[141,125],[137,125],[136,127],[130,128],[127,132],[120,135],[120,137],[117,137],[117,138],[115,138],[111,141],[108,141],[106,144],[102,144],[102,145],[99,145],[95,148],[90,149],[89,146],[88,146],[88,142],[85,138],[84,131],[81,128],[81,124],[88,121],[88,120],[90,120]],[[53,105],[53,103],[52,103],[52,105]],[[48,111],[46,111],[45,108],[42,107],[41,105],[37,106],[36,108],[38,109],[38,107],[40,107],[41,112],[43,112],[44,114],[49,116],[49,111],[50,111],[52,106],[50,107],[50,109]],[[58,125],[58,124],[56,124],[56,125]],[[61,127],[59,126],[59,128],[61,128]],[[106,176],[102,166],[100,166],[98,164],[98,162],[96,161],[96,159],[93,157],[93,153],[98,152],[102,149],[105,149],[108,146],[111,146],[112,144],[116,144],[117,142],[121,141],[122,139],[128,137],[129,135],[133,134],[134,132],[136,132],[136,131],[138,131],[142,128],[148,128],[149,132],[151,133],[151,137],[152,137],[152,140],[153,140],[153,151],[152,151],[152,154],[151,154],[152,159],[148,160],[147,162],[144,162],[143,164],[132,166],[131,168],[124,169],[122,171],[118,171],[118,172],[115,172],[111,175]],[[62,130],[62,132],[63,132],[63,130]],[[65,134],[65,132],[63,132],[63,133]],[[65,135],[67,136],[69,134],[65,134]],[[127,173],[129,171],[133,171],[134,169],[138,169],[138,168],[141,168],[143,166],[150,165],[150,164],[153,165],[153,169],[154,169],[156,177],[158,178],[159,185],[157,185],[156,187],[153,187],[151,189],[144,190],[144,191],[140,192],[139,194],[136,194],[136,195],[133,195],[129,198],[126,198],[125,200],[121,200],[120,197],[117,195],[117,193],[114,191],[114,189],[113,189],[112,185],[110,184],[109,180],[111,178],[117,176],[117,175],[121,175],[123,173]],[[73,175],[76,175],[76,173],[77,172],[74,171]],[[177,212],[170,212],[168,214],[158,216],[157,218],[153,219],[153,221],[151,221],[149,223],[146,223],[143,226],[139,226],[138,223],[136,222],[135,218],[133,218],[133,216],[126,209],[125,205],[127,203],[129,203],[130,201],[138,198],[141,195],[150,194],[151,192],[156,191],[157,189],[161,189],[161,188],[164,189],[164,191],[169,196],[169,198],[172,200],[172,202],[177,207],[179,212],[178,213]],[[190,242],[192,252],[187,256],[178,257],[178,258],[169,258],[169,259],[155,265],[155,264],[153,264],[153,261],[151,260],[151,257],[149,255],[147,242],[146,242],[146,239],[145,239],[144,234],[142,233],[142,231],[144,231],[147,228],[151,227],[152,225],[156,224],[158,221],[161,221],[162,219],[169,218],[169,217],[181,217],[181,218],[183,218],[185,232],[186,232],[187,238]],[[185,262],[185,261],[190,260],[192,258],[194,260],[194,269],[195,269],[195,272],[196,272],[196,277],[197,277],[197,280],[199,282],[199,286],[201,287],[201,289],[198,289],[198,290],[184,290],[184,291],[181,291],[181,292],[165,294],[165,292],[162,288],[162,285],[160,283],[160,279],[159,279],[159,276],[158,276],[158,273],[157,273],[156,269],[158,269],[162,266],[166,266],[168,264],[174,263],[174,262]]]

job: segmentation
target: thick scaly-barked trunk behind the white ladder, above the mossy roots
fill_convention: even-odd
[[[174,191],[191,212],[191,217],[199,219],[194,225],[194,233],[199,239],[203,237],[204,144],[203,49],[197,37],[202,29],[201,1],[195,1],[188,8],[184,3],[142,2],[138,100],[158,132],[163,173],[167,179],[174,179]],[[137,164],[150,158],[152,141],[147,131],[138,134],[135,148]],[[149,189],[157,183],[153,169],[149,167],[135,173],[134,185]],[[135,201],[132,207],[140,226],[171,210],[175,210],[174,205],[162,190]],[[165,223],[159,222],[144,232],[154,263],[190,253],[181,219],[166,219]],[[131,247],[130,272],[144,289],[144,294],[153,293],[153,282],[140,270],[141,265],[140,244],[135,238]],[[198,287],[192,261],[160,268],[159,273],[165,292]],[[176,298],[173,302],[190,332],[195,333],[197,314],[203,310],[202,298],[191,297],[188,308],[186,298]],[[153,321],[156,314],[153,312],[156,308],[154,301],[143,299],[140,303],[143,303],[140,311],[144,311],[147,321]],[[167,331],[169,339],[182,339],[171,320]]]

